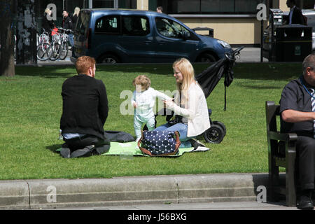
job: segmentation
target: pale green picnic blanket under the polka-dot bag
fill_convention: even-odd
[[[210,148],[206,147],[198,147],[194,150],[193,147],[190,148],[179,148],[179,153],[177,155],[168,155],[167,157],[179,157],[183,155],[183,153],[193,153],[193,152],[201,152],[201,151],[209,151]],[[61,151],[61,148],[56,150],[57,152]],[[120,155],[122,153],[128,153],[132,155],[139,155],[139,156],[150,156],[145,155],[141,152],[139,147],[137,146],[136,141],[130,141],[130,142],[114,142],[111,141],[111,148],[109,148],[109,151],[107,153],[103,153],[102,155]]]

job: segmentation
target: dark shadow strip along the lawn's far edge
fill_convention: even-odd
[[[194,63],[195,74],[199,74],[211,63]],[[237,63],[232,69],[235,78],[252,80],[291,80],[302,73],[301,63],[266,62]],[[147,73],[154,75],[173,75],[172,63],[169,64],[97,64],[97,72],[106,73]],[[43,78],[69,78],[76,75],[74,65],[69,66],[18,66],[15,73],[19,76],[40,76]]]

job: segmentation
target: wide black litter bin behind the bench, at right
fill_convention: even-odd
[[[285,25],[276,28],[276,62],[302,62],[311,54],[312,27]]]

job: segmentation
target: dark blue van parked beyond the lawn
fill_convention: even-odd
[[[82,55],[97,63],[215,62],[232,48],[225,41],[196,34],[163,13],[130,9],[80,10],[71,61]]]

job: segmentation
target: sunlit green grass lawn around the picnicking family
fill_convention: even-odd
[[[195,64],[200,73],[206,64]],[[73,66],[17,66],[13,78],[0,76],[0,179],[83,179],[113,176],[267,172],[265,101],[279,102],[281,90],[297,78],[302,66],[293,64],[236,64],[224,107],[223,79],[207,98],[212,120],[223,122],[227,134],[211,151],[185,153],[179,158],[92,156],[64,159],[55,150],[62,113],[61,87],[76,74]],[[104,130],[134,134],[133,116],[123,116],[123,90],[133,91],[140,74],[151,78],[155,90],[175,90],[172,64],[97,66],[109,97]],[[158,117],[158,125],[165,117]]]

